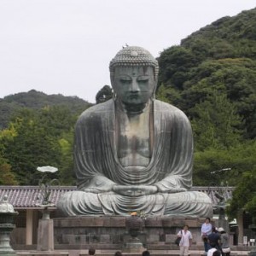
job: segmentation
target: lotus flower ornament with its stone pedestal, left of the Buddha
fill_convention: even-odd
[[[54,250],[54,231],[53,220],[49,218],[49,207],[55,207],[55,204],[49,201],[50,186],[57,182],[57,179],[52,179],[47,182],[47,172],[57,172],[58,169],[53,166],[41,166],[37,168],[38,172],[46,172],[39,181],[40,194],[42,195],[42,203],[38,207],[43,208],[43,217],[39,219],[38,224],[38,251],[53,251]]]

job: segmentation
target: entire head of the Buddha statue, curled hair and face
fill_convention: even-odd
[[[154,97],[158,62],[148,50],[137,46],[121,49],[109,65],[117,98],[125,105],[144,105]]]

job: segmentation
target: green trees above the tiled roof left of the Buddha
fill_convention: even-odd
[[[16,113],[9,129],[3,131],[8,135],[15,129],[15,136],[3,141],[3,158],[8,160],[20,184],[38,184],[38,166],[55,166],[60,172],[53,177],[73,183],[72,175],[67,173],[73,169],[71,138],[76,119],[77,115],[68,108],[56,106],[39,111],[25,108]],[[68,147],[64,147],[65,141]],[[66,174],[62,177],[63,173]]]

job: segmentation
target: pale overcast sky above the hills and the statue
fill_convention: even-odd
[[[95,102],[125,44],[157,57],[255,0],[0,0],[0,98],[28,90]]]

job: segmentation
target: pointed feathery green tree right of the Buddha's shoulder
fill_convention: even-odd
[[[241,141],[241,118],[234,104],[227,96],[212,91],[204,102],[189,110],[194,118],[191,124],[194,131],[195,148],[230,148]]]

